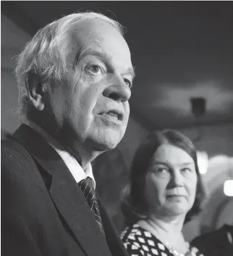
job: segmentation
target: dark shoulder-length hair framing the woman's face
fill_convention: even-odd
[[[195,162],[195,171],[198,176],[195,201],[187,212],[185,223],[203,209],[206,191],[200,178],[195,146],[192,141],[178,131],[163,130],[150,133],[138,146],[130,167],[130,176],[123,191],[122,212],[126,223],[135,222],[140,216],[148,215],[148,203],[145,198],[145,176],[151,163],[153,154],[162,144],[171,144],[183,149]]]

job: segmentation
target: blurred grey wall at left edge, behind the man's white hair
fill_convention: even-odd
[[[20,124],[17,113],[18,90],[14,77],[15,57],[31,36],[12,20],[1,15],[1,136]]]

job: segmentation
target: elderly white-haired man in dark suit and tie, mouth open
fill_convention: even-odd
[[[16,74],[24,120],[1,146],[2,255],[126,255],[90,165],[127,128],[134,70],[122,26],[62,17],[25,46]]]

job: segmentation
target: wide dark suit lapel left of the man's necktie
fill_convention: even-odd
[[[43,170],[50,174],[48,191],[51,198],[86,254],[111,255],[106,238],[101,233],[80,186],[59,154],[27,125],[21,125],[13,137],[20,141]]]

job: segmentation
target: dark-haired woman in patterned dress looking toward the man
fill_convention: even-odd
[[[138,147],[124,195],[129,255],[202,255],[182,235],[184,223],[201,210],[204,189],[195,146],[182,133],[151,133]],[[135,218],[136,217],[136,218]]]

